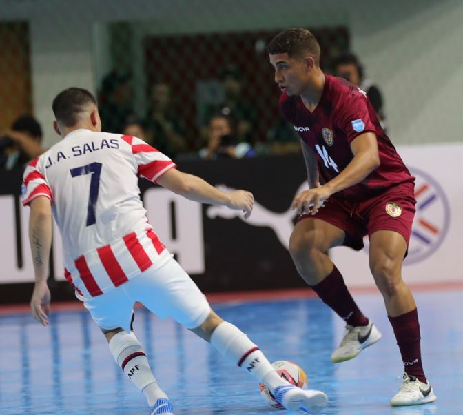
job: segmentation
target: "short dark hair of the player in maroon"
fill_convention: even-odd
[[[267,45],[267,53],[286,53],[290,58],[305,57],[309,53],[320,64],[320,45],[310,30],[302,28],[287,29],[280,32]]]

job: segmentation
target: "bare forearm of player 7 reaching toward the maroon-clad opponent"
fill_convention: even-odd
[[[157,179],[157,183],[163,188],[181,194],[192,201],[210,205],[224,205],[230,209],[243,210],[245,219],[249,218],[254,205],[254,196],[250,192],[236,190],[225,193],[209,185],[207,181],[200,179],[200,177],[180,172],[177,169],[167,170],[163,176]]]

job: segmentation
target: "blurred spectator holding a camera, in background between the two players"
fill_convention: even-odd
[[[202,159],[243,159],[256,152],[249,143],[238,143],[237,123],[230,115],[216,114],[209,121],[207,147],[199,151]]]

